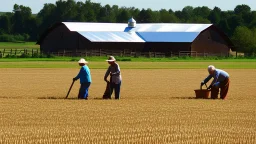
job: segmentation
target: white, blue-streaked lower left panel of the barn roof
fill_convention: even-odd
[[[134,32],[81,32],[78,33],[92,42],[145,42]]]

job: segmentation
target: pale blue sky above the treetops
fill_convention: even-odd
[[[85,2],[85,0],[76,0]],[[32,9],[32,13],[38,13],[45,3],[55,3],[56,0],[0,0],[0,12],[11,12],[13,5],[28,6]],[[251,10],[256,10],[256,0],[91,0],[91,2],[101,3],[101,5],[109,4],[118,5],[119,7],[135,7],[152,10],[172,9],[173,11],[182,10],[185,6],[208,6],[213,9],[215,6],[221,10],[234,10],[237,5],[246,4]]]

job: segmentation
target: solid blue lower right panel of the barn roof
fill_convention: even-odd
[[[199,32],[136,32],[146,42],[193,42]]]

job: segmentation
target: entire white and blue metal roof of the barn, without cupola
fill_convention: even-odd
[[[92,42],[193,42],[212,24],[150,23],[127,27],[118,23],[63,22]]]

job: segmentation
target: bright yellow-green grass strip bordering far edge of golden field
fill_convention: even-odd
[[[118,62],[121,69],[206,69],[214,65],[221,69],[256,69],[256,62]],[[106,69],[107,62],[89,62],[91,69]],[[0,68],[79,68],[76,61],[0,62]]]

